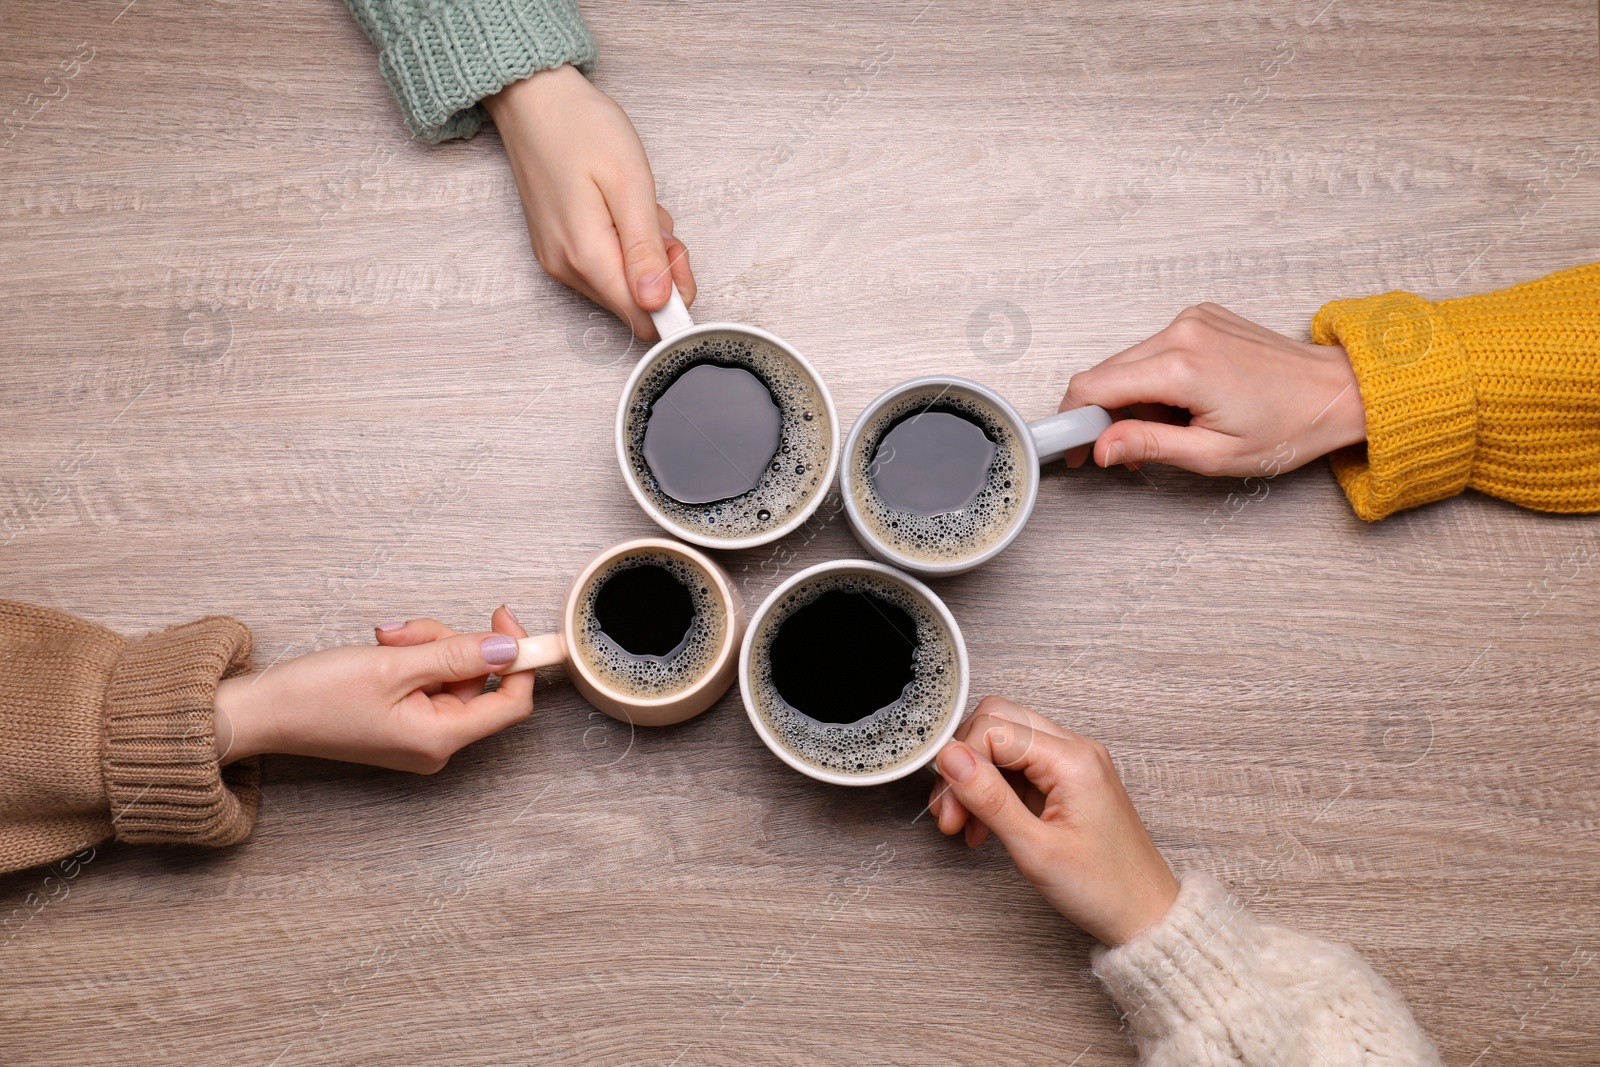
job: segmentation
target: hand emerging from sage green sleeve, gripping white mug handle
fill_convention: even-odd
[[[571,66],[514,82],[483,101],[517,176],[533,254],[645,339],[677,282],[694,302],[688,250],[656,203],[634,123]]]

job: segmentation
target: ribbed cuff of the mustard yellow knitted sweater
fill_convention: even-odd
[[[1342,344],[1366,405],[1366,445],[1328,456],[1355,514],[1378,520],[1467,488],[1477,394],[1443,312],[1411,293],[1333,301],[1312,341]]]

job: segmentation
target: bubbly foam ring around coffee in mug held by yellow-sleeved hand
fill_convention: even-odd
[[[898,422],[923,411],[949,411],[968,419],[995,445],[984,488],[960,510],[939,515],[901,512],[878,496],[872,482],[872,464],[883,438]],[[845,462],[850,464],[851,502],[862,525],[896,552],[931,563],[974,557],[1005,537],[1022,510],[1029,478],[1038,475],[1029,469],[1027,453],[1010,419],[958,386],[926,386],[885,406],[862,429],[854,454]]]

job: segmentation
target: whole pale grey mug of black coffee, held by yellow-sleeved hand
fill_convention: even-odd
[[[1040,464],[1091,445],[1112,422],[1085,406],[1027,422],[965,378],[918,378],[874,400],[840,462],[850,528],[907,571],[960,574],[998,555],[1027,523]]]

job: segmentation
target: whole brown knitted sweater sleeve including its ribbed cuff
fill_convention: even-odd
[[[216,685],[250,630],[208,617],[128,641],[0,600],[0,872],[122,841],[234,845],[261,803],[256,760],[218,766]]]

